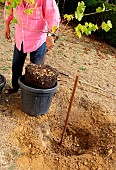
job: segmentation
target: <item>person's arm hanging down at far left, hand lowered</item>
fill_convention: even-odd
[[[13,10],[10,11],[10,15],[6,14],[6,5],[10,5],[10,2],[6,2],[4,8],[4,36],[6,39],[10,39],[10,22],[13,19]]]

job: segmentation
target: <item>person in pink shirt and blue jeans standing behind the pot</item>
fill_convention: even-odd
[[[10,2],[6,2],[6,5],[10,5]],[[28,14],[29,10],[32,10],[30,14]],[[10,11],[8,16],[6,8],[4,8],[4,36],[6,39],[10,39],[10,23],[13,17],[17,19],[17,23],[15,24],[15,45],[12,59],[12,87],[8,89],[9,94],[17,92],[20,88],[18,79],[22,75],[27,53],[30,53],[30,62],[41,64],[47,49],[46,42],[52,40],[49,33],[54,26],[59,27],[60,23],[55,0],[34,0],[34,4],[29,0],[22,0],[16,8]],[[49,45],[48,48],[50,48]]]

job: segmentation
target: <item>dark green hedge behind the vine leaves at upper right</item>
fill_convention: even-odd
[[[64,5],[64,14],[73,14],[76,10],[76,6],[78,5],[78,2],[80,0],[65,0]],[[116,0],[109,0],[109,3],[105,2],[105,0],[83,0],[85,3],[85,13],[95,13],[96,9],[98,7],[101,7],[103,9],[103,4],[105,5],[105,11],[95,13],[94,15],[86,15],[82,18],[81,24],[84,25],[85,22],[91,22],[94,24],[97,24],[99,29],[96,30],[94,34],[97,34],[97,36],[104,40],[106,43],[111,44],[112,46],[116,47]],[[62,14],[62,8],[63,8],[63,2],[64,0],[60,0],[60,12]],[[70,4],[70,5],[69,5]],[[107,11],[111,9],[110,11]],[[110,29],[108,32],[105,32],[101,25],[102,22],[107,23],[107,21],[110,20],[112,23],[112,29]],[[75,23],[79,23],[77,20],[73,20]]]

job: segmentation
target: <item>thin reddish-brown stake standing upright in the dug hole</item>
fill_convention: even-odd
[[[74,95],[75,95],[75,91],[76,91],[76,87],[77,87],[77,82],[78,82],[78,76],[76,76],[76,79],[75,79],[75,84],[74,84],[72,96],[71,96],[71,99],[70,99],[70,105],[69,105],[68,113],[67,113],[67,116],[66,116],[65,126],[64,126],[64,129],[63,129],[63,133],[62,133],[60,143],[59,143],[60,146],[62,145],[64,133],[65,133],[67,125],[68,125],[68,119],[69,119],[72,103],[73,103],[73,100],[74,100]]]

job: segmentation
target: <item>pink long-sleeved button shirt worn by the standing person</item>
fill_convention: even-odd
[[[27,15],[25,10],[30,8],[34,8],[33,13]],[[11,21],[13,16],[17,18],[15,42],[19,50],[23,42],[24,53],[37,50],[46,41],[47,33],[43,32],[48,32],[54,25],[59,26],[60,22],[55,0],[35,0],[33,5],[27,3],[25,7],[22,1],[10,16],[4,14],[6,21]]]

